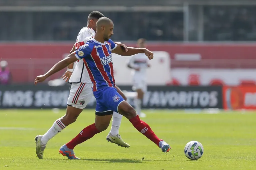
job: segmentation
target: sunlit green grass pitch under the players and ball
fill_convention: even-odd
[[[82,160],[59,154],[80,130],[94,122],[94,110],[84,110],[77,121],[46,145],[44,159],[36,156],[36,135],[44,134],[65,110],[0,110],[0,169],[256,169],[256,112],[185,113],[180,110],[145,110],[143,120],[172,147],[162,153],[153,142],[123,118],[120,135],[131,145],[121,148],[106,141],[109,129],[79,144]],[[197,161],[184,155],[187,142],[197,140],[204,154]],[[144,159],[143,159],[144,157]]]

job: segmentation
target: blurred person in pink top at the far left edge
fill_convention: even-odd
[[[7,61],[0,62],[0,85],[7,85],[12,82],[12,74],[7,66]]]

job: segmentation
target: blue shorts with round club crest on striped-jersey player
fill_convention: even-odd
[[[113,114],[113,111],[118,113],[119,104],[125,101],[113,87],[94,91],[93,95],[96,98],[95,114],[99,116]]]

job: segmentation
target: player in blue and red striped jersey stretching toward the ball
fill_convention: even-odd
[[[97,32],[94,38],[82,45],[78,50],[71,53],[65,59],[55,64],[46,74],[37,76],[35,85],[44,81],[47,77],[67,67],[77,59],[83,60],[93,82],[92,91],[96,98],[95,122],[83,130],[67,144],[60,148],[60,153],[69,159],[79,159],[74,155],[73,148],[95,134],[108,128],[113,111],[118,112],[130,120],[132,125],[148,139],[154,142],[163,152],[168,152],[170,146],[159,139],[150,126],[140,120],[134,108],[127,103],[115,87],[114,70],[112,62],[112,52],[122,56],[130,56],[138,53],[145,53],[149,58],[153,58],[153,53],[146,48],[128,47],[128,51],[115,44],[110,37],[113,35],[113,22],[106,17],[102,17],[96,24]]]

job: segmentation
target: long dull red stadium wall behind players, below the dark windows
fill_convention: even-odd
[[[72,46],[72,43],[58,42],[2,43],[0,60],[9,63],[15,83],[33,82],[35,76],[45,73],[67,56]],[[147,48],[168,52],[172,59],[171,68],[256,68],[256,44],[148,43]],[[177,59],[177,56],[181,57]],[[236,61],[231,62],[233,60]],[[63,72],[51,78],[60,77]]]

